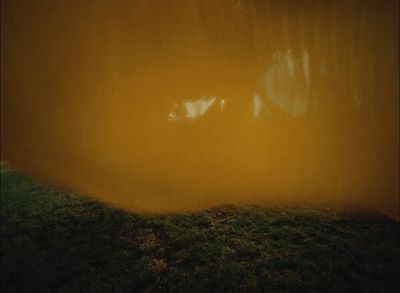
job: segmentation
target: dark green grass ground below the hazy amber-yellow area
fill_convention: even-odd
[[[328,206],[140,216],[1,173],[2,292],[398,292],[400,225]]]

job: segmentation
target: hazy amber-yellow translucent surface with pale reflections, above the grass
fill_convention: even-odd
[[[135,210],[399,213],[399,2],[1,3],[2,159]]]

